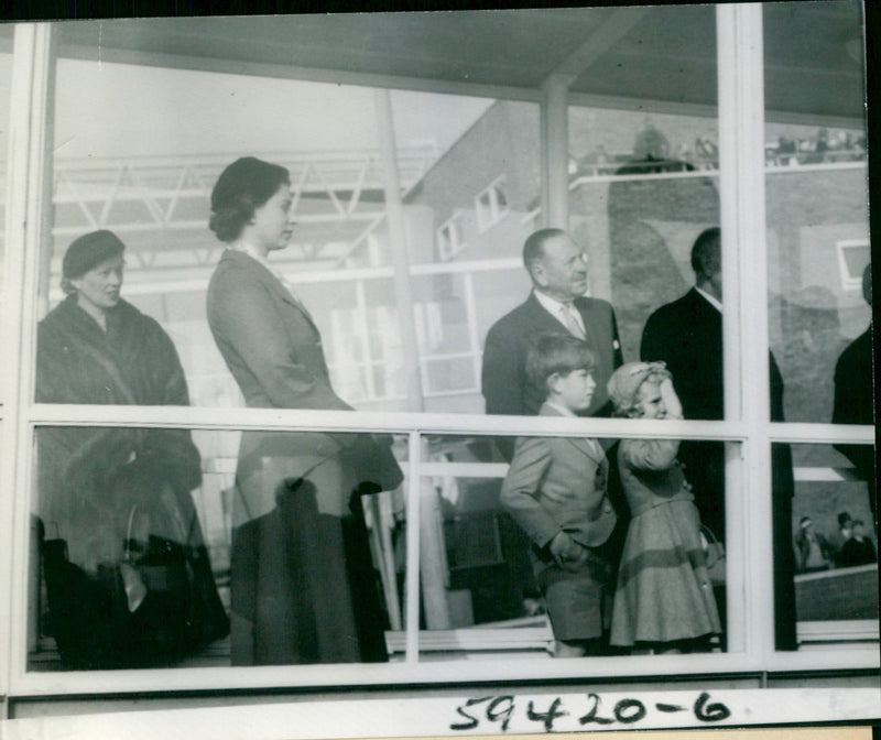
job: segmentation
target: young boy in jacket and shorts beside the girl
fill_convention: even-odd
[[[530,382],[544,388],[539,415],[576,416],[590,405],[594,355],[568,334],[545,334],[526,356]],[[589,437],[522,437],[501,503],[532,540],[531,559],[556,639],[556,657],[598,654],[614,574],[603,545],[617,516],[609,464]]]

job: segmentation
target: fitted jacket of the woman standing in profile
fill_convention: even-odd
[[[312,318],[260,262],[243,252],[224,252],[208,285],[207,304],[217,347],[249,406],[350,409],[330,387],[322,338]],[[350,435],[246,432],[237,469],[247,501],[242,514],[251,519],[270,511],[275,486],[284,476],[312,471],[316,477],[338,469],[320,463],[338,456],[351,442]],[[267,482],[270,471],[272,480]],[[319,491],[322,510],[345,511],[346,491],[325,488]],[[237,513],[237,523],[239,519]]]

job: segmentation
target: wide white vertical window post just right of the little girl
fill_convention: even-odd
[[[725,417],[742,418],[726,455],[728,649],[774,650],[762,6],[716,9],[722,230]],[[749,258],[749,259],[748,259]],[[750,265],[760,269],[750,269]],[[750,552],[746,552],[746,531]],[[749,584],[749,588],[746,588]],[[793,616],[794,618],[794,616]]]

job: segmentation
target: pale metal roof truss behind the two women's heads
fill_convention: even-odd
[[[401,187],[415,185],[438,155],[426,144],[398,152]],[[366,242],[384,218],[378,151],[271,152],[291,173],[297,221],[286,257],[331,264]],[[198,268],[222,246],[208,231],[211,187],[229,155],[56,160],[54,255],[93,229],[112,229],[135,268]]]

